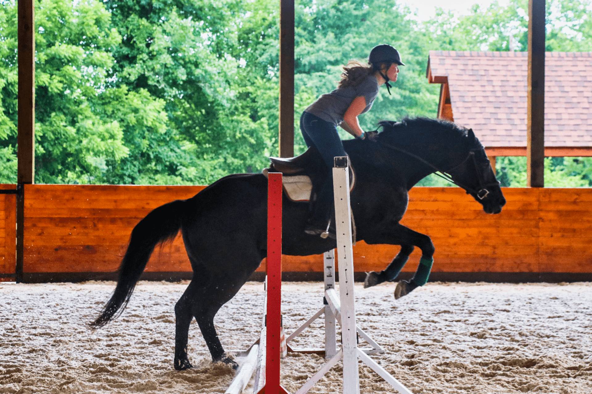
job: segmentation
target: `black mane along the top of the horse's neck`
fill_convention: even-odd
[[[443,119],[404,118],[400,122],[381,121],[381,138],[396,139],[400,144],[417,144],[418,139],[466,138],[467,129]],[[460,141],[460,140],[459,140]]]

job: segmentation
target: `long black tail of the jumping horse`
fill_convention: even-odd
[[[151,211],[136,224],[119,267],[115,291],[91,327],[102,327],[123,312],[155,246],[172,239],[181,229],[184,208],[185,200],[172,201]]]

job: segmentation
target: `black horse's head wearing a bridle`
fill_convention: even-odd
[[[472,129],[466,131],[465,144],[466,158],[447,172],[455,183],[483,206],[485,213],[500,213],[501,207],[506,204],[506,198],[485,154],[485,148]]]

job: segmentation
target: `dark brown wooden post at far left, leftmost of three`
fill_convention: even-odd
[[[35,167],[35,24],[33,4],[33,0],[18,0],[17,282],[22,282],[24,185],[33,183]]]

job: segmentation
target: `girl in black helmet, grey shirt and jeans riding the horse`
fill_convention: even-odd
[[[404,66],[398,51],[391,45],[377,45],[370,52],[368,64],[349,61],[343,67],[337,89],[320,96],[300,117],[304,142],[308,147],[317,148],[327,166],[327,181],[318,190],[316,200],[312,201],[311,198],[313,207],[304,228],[305,233],[335,239],[334,226],[330,226],[333,208],[333,181],[330,175],[333,158],[346,156],[337,126],[358,139],[375,141],[376,133],[364,132],[358,122],[358,115],[372,108],[379,86],[386,84],[388,93],[391,93],[388,82],[397,80],[398,66]]]

